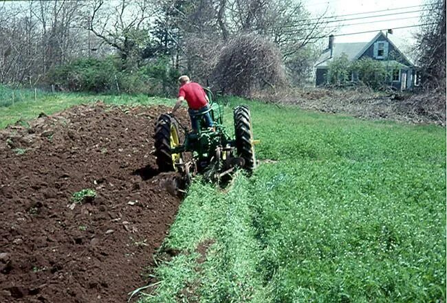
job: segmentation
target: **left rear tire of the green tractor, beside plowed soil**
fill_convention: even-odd
[[[171,132],[177,135],[178,128],[175,120],[170,115],[162,114],[158,117],[157,124],[155,124],[155,157],[160,172],[169,172],[175,170],[175,163],[171,148],[175,147],[172,142]]]

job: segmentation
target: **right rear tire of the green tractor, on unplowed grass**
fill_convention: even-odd
[[[239,105],[235,108],[235,136],[237,154],[244,160],[243,168],[252,172],[256,168],[254,155],[252,118],[248,106]]]

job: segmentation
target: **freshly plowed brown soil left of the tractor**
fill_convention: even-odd
[[[125,302],[145,283],[180,203],[151,154],[168,110],[96,103],[0,131],[0,302]]]

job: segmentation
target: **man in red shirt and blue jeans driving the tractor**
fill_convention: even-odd
[[[200,127],[199,119],[201,119],[199,115],[210,109],[210,100],[208,100],[208,96],[206,96],[204,89],[198,83],[192,82],[188,76],[181,76],[179,82],[180,89],[178,99],[177,102],[175,102],[172,113],[175,113],[175,111],[182,105],[183,100],[186,100],[188,103],[191,126],[193,127],[193,131],[197,132]],[[213,124],[210,112],[206,112],[202,117],[204,118],[205,126],[212,128]]]

